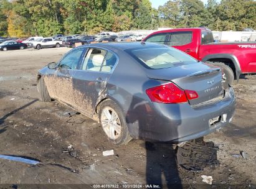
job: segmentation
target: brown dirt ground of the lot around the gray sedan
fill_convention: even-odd
[[[69,50],[0,52],[0,154],[40,161],[29,165],[0,159],[0,188],[128,188],[126,184],[146,183],[164,188],[256,188],[256,75],[246,75],[234,85],[237,110],[232,123],[204,138],[214,142],[219,164],[187,170],[176,164],[175,145],[133,140],[118,147],[92,119],[82,114],[65,117],[71,109],[58,101],[38,100],[37,70]],[[115,155],[103,156],[111,149]],[[212,185],[202,182],[201,175],[212,176]]]

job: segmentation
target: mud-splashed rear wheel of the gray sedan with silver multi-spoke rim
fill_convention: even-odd
[[[131,141],[125,116],[114,101],[107,99],[100,104],[99,119],[108,140],[117,145],[128,144]]]

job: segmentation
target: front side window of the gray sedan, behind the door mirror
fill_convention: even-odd
[[[62,60],[60,60],[59,68],[77,70],[80,57],[84,48],[78,48],[67,54]]]

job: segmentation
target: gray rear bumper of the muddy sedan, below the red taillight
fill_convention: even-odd
[[[233,88],[226,90],[224,98],[214,103],[197,106],[153,103],[153,112],[146,120],[139,120],[138,138],[184,142],[206,136],[229,124],[235,113],[235,104]],[[219,120],[213,122],[213,118]]]

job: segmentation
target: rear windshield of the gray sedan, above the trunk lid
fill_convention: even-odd
[[[143,48],[130,53],[140,62],[152,69],[179,67],[197,63],[197,60],[175,48]]]

